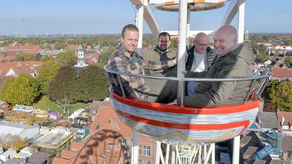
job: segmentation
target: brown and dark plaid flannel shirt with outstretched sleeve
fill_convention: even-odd
[[[161,70],[174,66],[173,60],[150,61],[141,57],[138,53],[130,54],[119,46],[108,59],[108,69],[129,74],[143,74],[143,69]],[[109,74],[113,91],[122,93],[116,74]],[[139,77],[128,77],[121,75],[126,96],[143,100],[151,86],[145,85],[145,80]]]

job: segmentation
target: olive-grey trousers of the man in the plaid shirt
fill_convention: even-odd
[[[163,76],[161,73],[152,76]],[[145,79],[145,85],[151,87],[144,100],[149,102],[168,103],[176,99],[178,81]]]

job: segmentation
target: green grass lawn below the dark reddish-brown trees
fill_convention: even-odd
[[[72,106],[69,105],[70,109],[70,114],[73,113],[74,111],[83,108],[85,106],[90,106],[91,103],[75,103],[72,104]],[[45,95],[40,95],[37,97],[33,103],[33,107],[36,109],[41,109],[41,110],[48,110],[50,109],[51,111],[58,111],[60,114],[63,113],[62,109],[58,107],[58,104],[55,103],[54,101],[49,100],[49,98]],[[66,110],[66,113],[64,113],[65,116],[68,115],[68,109]]]

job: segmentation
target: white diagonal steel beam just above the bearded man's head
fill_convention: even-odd
[[[158,21],[155,17],[154,12],[152,11],[152,8],[150,5],[144,7],[144,20],[146,21],[147,25],[149,26],[152,35],[154,36],[154,39],[158,41],[158,36],[159,36],[159,24]]]

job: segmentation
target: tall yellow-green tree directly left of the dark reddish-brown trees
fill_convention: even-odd
[[[49,83],[57,73],[59,69],[58,63],[55,61],[49,60],[45,62],[40,70],[37,81],[40,83],[40,93],[45,94],[48,91]]]

